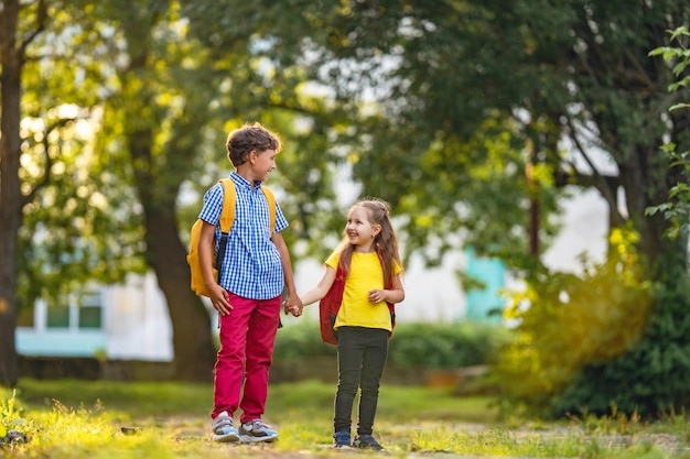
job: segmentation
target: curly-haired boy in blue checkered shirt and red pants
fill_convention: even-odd
[[[200,214],[203,220],[198,247],[202,275],[213,307],[219,314],[220,327],[211,414],[214,441],[278,439],[278,433],[261,422],[261,415],[268,395],[283,286],[288,291],[285,312],[301,306],[288,247],[279,232],[288,227],[288,221],[276,204],[276,229],[269,234],[269,203],[260,189],[276,168],[280,147],[278,135],[259,123],[245,124],[228,135],[227,155],[235,167],[230,178],[235,183],[237,204],[218,282],[212,271],[211,244],[214,236],[219,240],[222,184],[206,193]],[[241,409],[239,429],[233,423],[238,408]]]

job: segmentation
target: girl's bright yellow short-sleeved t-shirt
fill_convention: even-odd
[[[337,271],[339,252],[334,252],[326,260],[326,265]],[[396,264],[393,272],[399,274],[402,269]],[[333,328],[365,327],[382,328],[392,331],[390,310],[386,302],[373,304],[367,299],[369,291],[384,288],[384,270],[376,252],[353,253],[349,273],[345,280],[343,303]]]

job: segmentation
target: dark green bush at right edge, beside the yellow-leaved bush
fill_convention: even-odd
[[[654,314],[639,342],[605,364],[584,367],[552,401],[553,414],[618,412],[649,418],[690,406],[690,278],[677,265],[660,270],[665,277],[653,291]]]

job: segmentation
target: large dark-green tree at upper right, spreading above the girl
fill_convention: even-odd
[[[688,12],[662,1],[626,8],[622,15],[622,4],[391,0],[332,9],[320,4],[324,15],[303,6],[303,17],[315,31],[308,43],[325,50],[312,75],[322,75],[324,84],[333,81],[342,100],[362,100],[363,91],[380,94],[386,121],[360,122],[358,129],[373,139],[364,149],[387,154],[354,156],[355,172],[367,188],[396,201],[416,196],[418,209],[438,209],[472,228],[486,212],[472,212],[465,220],[454,206],[462,200],[484,209],[485,201],[463,199],[459,187],[445,193],[435,186],[439,199],[427,201],[433,194],[419,193],[420,183],[459,181],[467,170],[463,145],[471,145],[475,156],[468,160],[475,164],[487,153],[472,139],[482,142],[509,132],[511,142],[502,151],[531,145],[535,162],[548,167],[554,181],[600,190],[610,204],[612,225],[629,219],[640,232],[643,255],[651,265],[665,252],[659,234],[666,223],[645,218],[644,211],[665,196],[675,178],[656,151],[665,135],[681,136],[688,120],[673,114],[669,131],[659,117],[669,98],[665,89],[670,74],[650,62],[647,52],[667,40],[668,18],[682,20]],[[349,107],[360,113],[360,105]],[[570,155],[561,147],[563,136],[573,145]],[[435,145],[446,156],[432,162],[427,173],[423,166],[438,155]],[[600,172],[596,153],[618,166],[617,177]],[[573,155],[586,166],[574,167]],[[445,167],[439,170],[440,164]],[[434,176],[446,171],[448,178]],[[660,179],[667,173],[671,175]],[[400,174],[410,179],[400,179]],[[618,210],[618,188],[625,192],[627,216]],[[499,215],[492,214],[494,225],[500,225]],[[448,230],[438,227],[440,234]],[[502,247],[498,234],[492,236],[471,241]]]

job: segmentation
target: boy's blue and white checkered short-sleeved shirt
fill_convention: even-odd
[[[284,277],[280,254],[269,234],[268,201],[258,186],[251,187],[242,176],[233,172],[230,178],[237,190],[235,221],[228,236],[218,284],[244,298],[270,299],[282,293]],[[220,239],[223,184],[215,184],[204,196],[198,216],[216,227],[216,258]],[[288,227],[288,220],[276,203],[276,232]]]

